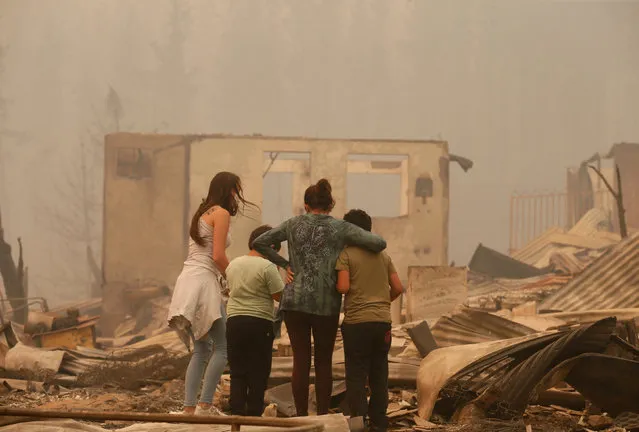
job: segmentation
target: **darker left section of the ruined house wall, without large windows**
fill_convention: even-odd
[[[107,282],[175,282],[187,238],[185,142],[180,136],[106,137],[103,268]],[[148,155],[150,176],[118,174],[118,152],[126,149]]]

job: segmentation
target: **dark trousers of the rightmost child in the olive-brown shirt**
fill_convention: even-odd
[[[388,427],[388,352],[391,325],[382,322],[342,324],[346,360],[346,397],[351,417],[368,417],[374,430]],[[366,403],[366,379],[371,390]]]

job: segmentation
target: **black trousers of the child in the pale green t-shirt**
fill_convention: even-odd
[[[231,413],[261,416],[273,359],[273,322],[246,315],[226,322]]]

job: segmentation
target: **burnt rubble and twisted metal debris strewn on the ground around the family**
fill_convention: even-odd
[[[409,276],[404,301],[410,307],[393,325],[388,358],[390,430],[639,430],[639,234],[622,241],[601,230],[601,217],[591,211],[573,229],[552,229],[512,256],[480,245],[468,269]],[[34,303],[25,325],[5,319],[0,405],[180,410],[189,352],[166,325],[170,294],[162,285],[107,285],[104,299],[51,310],[46,301]],[[295,416],[292,369],[283,325],[266,393],[271,415]],[[339,332],[333,376],[333,416],[326,421],[344,430],[349,413]],[[222,410],[229,390],[224,375],[214,401]],[[13,430],[8,424],[16,418],[3,421]]]

